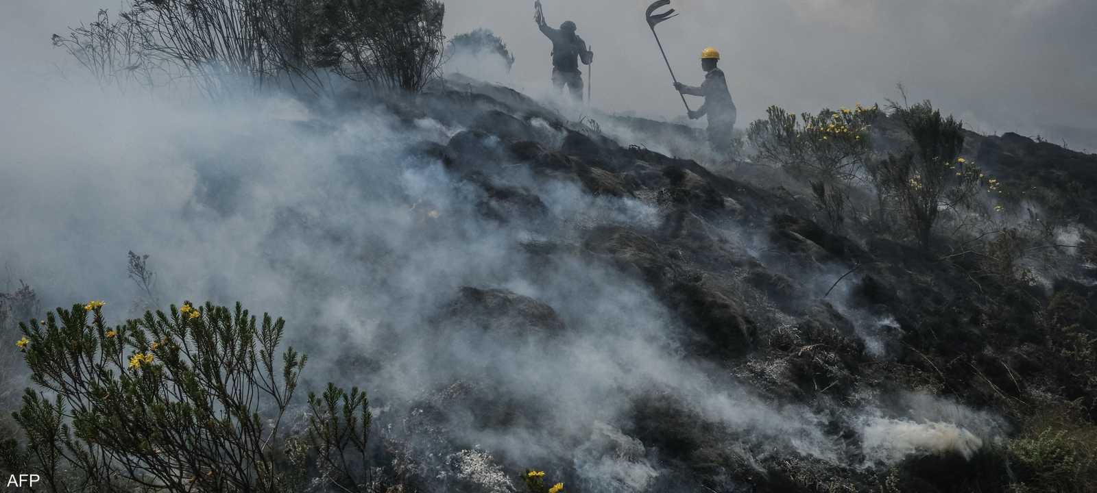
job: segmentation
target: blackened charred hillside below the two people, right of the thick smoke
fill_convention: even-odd
[[[972,240],[985,226],[972,226],[971,234],[940,233],[924,250],[901,228],[871,221],[828,230],[816,222],[821,213],[804,197],[803,184],[790,176],[751,181],[758,163],[731,164],[743,173],[724,163],[717,174],[608,137],[630,133],[703,147],[703,136],[685,127],[618,118],[607,126],[624,128],[603,134],[505,88],[462,82],[395,111],[407,125],[430,115],[466,128],[419,152],[482,192],[476,214],[483,218],[499,228],[544,231],[519,242],[523,263],[548,276],[580,262],[638,283],[677,332],[667,351],[742,388],[750,395],[746,408],[793,409],[806,420],[767,429],[762,416],[728,422],[706,415],[681,389],[620,389],[626,402],[615,425],[635,440],[623,460],[660,471],[630,486],[1005,491],[1059,481],[1039,470],[1044,466],[1030,466],[1017,444],[1032,433],[1055,433],[1048,432],[1055,426],[1088,429],[1094,416],[1097,395],[1082,370],[1090,349],[1068,342],[1082,337],[1092,347],[1097,326],[1087,308],[1092,239],[1062,244],[1063,227],[1077,221],[1083,228],[1076,231],[1092,228],[1094,195],[1076,183],[1097,170],[1094,156],[1016,134],[968,133],[964,156],[1009,183],[1009,207],[1027,217],[1007,220],[988,250]],[[461,110],[432,110],[454,106]],[[873,134],[881,149],[909,140],[889,117]],[[572,183],[593,197],[634,199],[656,213],[646,223],[568,223],[546,210],[538,185],[529,185],[550,182]],[[1018,233],[1025,220],[1049,243]],[[486,334],[527,331],[546,346],[584,330],[556,316],[551,300],[491,286],[461,288],[433,321]],[[533,403],[500,402],[490,390],[497,378],[490,371],[464,378],[470,387],[449,395],[468,400],[460,406],[493,410],[461,426],[507,427],[539,413]],[[1049,415],[1076,421],[1052,425]],[[564,477],[581,478],[577,470],[590,459],[567,456],[548,460]],[[596,484],[591,491],[608,491]]]

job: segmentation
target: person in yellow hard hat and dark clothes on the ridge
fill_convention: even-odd
[[[735,127],[735,103],[727,89],[724,71],[716,65],[720,62],[720,51],[716,48],[704,48],[701,51],[701,69],[704,70],[704,82],[700,87],[675,82],[675,89],[687,95],[704,98],[704,104],[697,111],[689,112],[691,119],[709,117],[709,144],[716,153],[727,156],[732,151],[732,129]]]

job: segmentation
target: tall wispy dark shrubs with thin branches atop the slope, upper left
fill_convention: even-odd
[[[444,14],[437,0],[133,0],[117,20],[100,11],[53,39],[103,84],[318,93],[335,72],[419,91],[440,72]]]

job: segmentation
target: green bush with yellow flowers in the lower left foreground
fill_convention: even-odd
[[[49,395],[27,389],[14,416],[49,490],[292,490],[303,474],[281,428],[307,358],[279,357],[282,319],[184,302],[109,329],[104,305],[21,324],[32,381]],[[364,447],[364,392],[329,385],[309,403],[305,457]]]

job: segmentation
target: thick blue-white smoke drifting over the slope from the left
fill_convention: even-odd
[[[19,90],[2,117],[0,255],[45,306],[95,298],[115,320],[136,314],[125,252],[148,253],[161,300],[285,317],[287,343],[312,355],[305,387],[367,389],[378,436],[416,444],[422,465],[480,448],[508,468],[574,474],[584,491],[655,488],[668,474],[658,450],[630,435],[649,406],[715,426],[744,467],[774,452],[890,463],[1000,433],[968,410],[912,413],[879,394],[807,405],[751,389],[693,355],[634,276],[530,253],[581,250],[592,227],[657,228],[657,208],[502,161],[482,180],[541,206],[485,214],[490,187],[420,151],[463,129],[452,123],[383,102],[325,112],[275,95],[215,105],[60,81]],[[561,130],[536,128],[559,146]],[[866,442],[847,443],[836,422]]]

